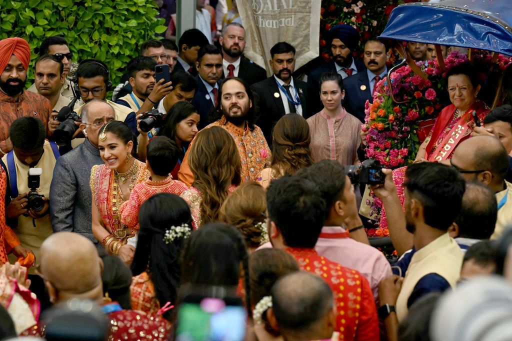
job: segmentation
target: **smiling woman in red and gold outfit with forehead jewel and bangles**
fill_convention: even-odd
[[[126,123],[112,121],[103,125],[98,147],[105,164],[91,169],[93,234],[107,250],[130,264],[135,243],[129,239],[137,231],[121,224],[119,207],[130,198],[133,187],[148,179],[150,173],[145,163],[132,157],[133,133]]]

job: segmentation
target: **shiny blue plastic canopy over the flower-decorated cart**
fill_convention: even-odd
[[[512,1],[409,3],[391,12],[380,38],[458,46],[512,56]]]

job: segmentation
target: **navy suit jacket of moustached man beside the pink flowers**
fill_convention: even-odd
[[[367,99],[370,102],[372,101],[368,73],[365,70],[345,78],[343,80],[343,87],[345,88],[344,108],[361,122],[364,122],[366,116],[365,102]]]

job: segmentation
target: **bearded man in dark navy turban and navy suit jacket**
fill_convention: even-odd
[[[309,73],[308,86],[311,90],[312,110],[317,113],[324,108],[320,101],[320,88],[318,82],[322,74],[327,71],[337,72],[344,79],[348,76],[358,74],[366,70],[365,64],[355,60],[352,52],[359,45],[359,33],[352,26],[333,26],[327,35],[328,44],[331,46],[333,60],[324,64]]]

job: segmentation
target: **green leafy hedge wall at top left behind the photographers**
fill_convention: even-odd
[[[73,61],[97,58],[106,63],[117,84],[128,62],[147,39],[165,32],[154,1],[0,0],[0,39],[22,37],[32,50],[27,86],[42,40],[62,35]]]

